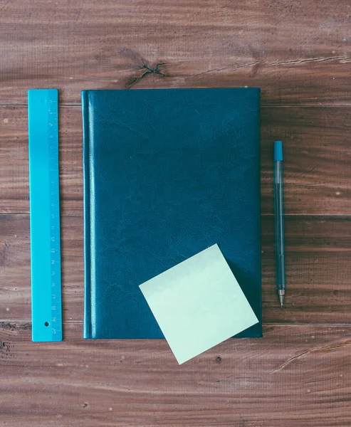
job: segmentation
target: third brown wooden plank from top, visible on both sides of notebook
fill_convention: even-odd
[[[262,218],[263,321],[351,325],[351,218],[288,217],[288,290],[276,295],[272,216]],[[63,318],[83,320],[83,218],[63,216]],[[28,216],[0,216],[0,320],[31,319]]]

